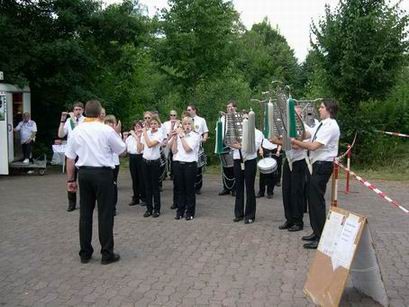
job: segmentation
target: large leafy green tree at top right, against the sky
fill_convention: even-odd
[[[384,98],[408,51],[407,25],[408,16],[384,0],[342,0],[335,12],[327,6],[312,25],[312,46],[332,93],[352,106]]]

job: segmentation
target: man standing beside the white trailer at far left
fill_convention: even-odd
[[[31,120],[30,113],[25,112],[23,114],[23,120],[14,128],[14,131],[20,131],[20,142],[24,155],[23,163],[29,164],[30,160],[32,162],[32,144],[37,133],[37,124]]]

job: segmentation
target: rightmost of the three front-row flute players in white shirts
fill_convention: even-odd
[[[168,144],[173,153],[177,220],[185,215],[187,221],[192,220],[196,213],[195,178],[201,136],[192,128],[192,118],[183,118],[182,127],[171,132]]]

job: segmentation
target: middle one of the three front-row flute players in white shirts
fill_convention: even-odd
[[[138,144],[138,153],[143,151],[143,174],[145,176],[146,212],[143,216],[159,217],[161,207],[159,190],[160,147],[163,133],[159,130],[161,122],[157,116],[152,116],[148,123],[150,129],[147,126],[143,127],[141,143]]]

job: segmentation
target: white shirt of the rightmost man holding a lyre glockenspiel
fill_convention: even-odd
[[[338,123],[333,118],[327,118],[321,121],[320,127],[318,125],[311,142],[318,142],[322,144],[320,148],[310,151],[310,161],[333,161],[338,155],[338,142],[340,131]]]

